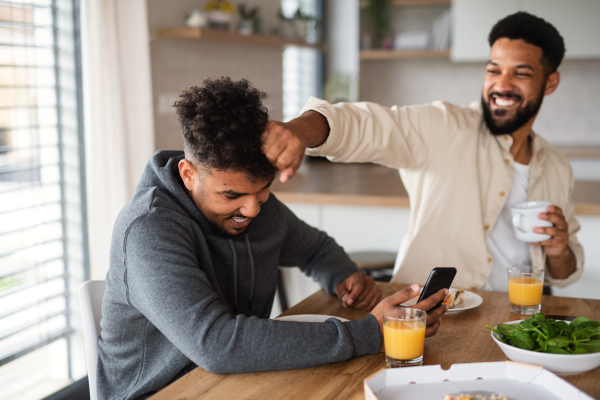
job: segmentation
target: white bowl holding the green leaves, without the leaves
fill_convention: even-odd
[[[506,325],[518,324],[520,321],[505,322]],[[567,322],[567,321],[565,321]],[[569,322],[567,322],[569,323]],[[498,327],[496,327],[497,329]],[[533,364],[544,367],[557,374],[576,374],[589,371],[600,366],[600,353],[591,354],[551,354],[540,353],[537,351],[523,350],[518,347],[510,346],[498,340],[498,334],[494,331],[492,338],[500,346],[500,349],[506,354],[506,357],[512,361],[524,364]]]

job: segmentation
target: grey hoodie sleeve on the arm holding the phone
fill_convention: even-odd
[[[185,221],[145,214],[127,230],[124,280],[129,304],[198,366],[214,373],[306,368],[379,351],[371,315],[315,324],[230,314],[198,264],[194,241]],[[160,345],[156,337],[145,342]]]

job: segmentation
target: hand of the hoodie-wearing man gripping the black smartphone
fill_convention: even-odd
[[[448,310],[448,306],[442,304],[437,308],[435,305],[444,300],[444,297],[448,294],[448,289],[442,289],[439,292],[429,296],[420,303],[410,306],[410,308],[416,308],[427,312],[427,327],[425,328],[425,337],[433,336],[440,327],[440,318]],[[391,296],[383,299],[374,309],[371,314],[377,318],[379,322],[379,330],[381,332],[381,349],[380,352],[384,351],[383,345],[383,311],[389,308],[399,307],[400,304],[416,297],[419,295],[419,285],[412,284],[399,292],[394,293]]]

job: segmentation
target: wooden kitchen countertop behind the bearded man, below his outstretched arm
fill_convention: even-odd
[[[285,203],[410,207],[398,170],[324,158],[306,157],[294,178],[276,178],[272,191]],[[600,182],[576,181],[573,200],[576,214],[600,215]]]

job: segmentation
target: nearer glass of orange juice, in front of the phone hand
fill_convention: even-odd
[[[427,313],[414,308],[389,308],[383,312],[383,342],[388,367],[423,363]]]

